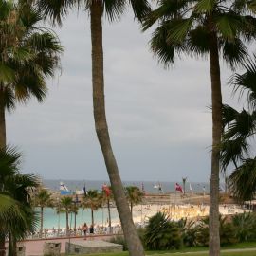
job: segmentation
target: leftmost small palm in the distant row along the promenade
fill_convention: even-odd
[[[46,191],[45,189],[41,189],[36,195],[35,204],[36,206],[40,207],[40,235],[42,237],[44,227],[44,208],[53,206],[51,193]]]

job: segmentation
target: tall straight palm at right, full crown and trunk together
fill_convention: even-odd
[[[232,68],[247,56],[243,41],[255,38],[252,5],[234,0],[161,0],[144,22],[144,29],[156,27],[151,47],[164,64],[174,64],[174,56],[210,58],[212,150],[210,174],[210,255],[220,254],[219,160],[222,135],[222,92],[219,59]],[[250,9],[251,8],[251,9]],[[252,10],[252,11],[250,11]]]

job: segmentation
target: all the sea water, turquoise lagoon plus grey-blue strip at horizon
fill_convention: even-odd
[[[52,190],[59,191],[60,182],[64,182],[65,186],[69,191],[75,192],[77,190],[82,190],[84,185],[86,191],[88,190],[101,190],[104,183],[109,184],[107,180],[53,180],[53,179],[44,179],[44,187]],[[150,182],[150,181],[125,181],[123,186],[137,186],[142,189],[142,184],[145,192],[175,192],[175,182]],[[182,186],[182,182],[178,183]],[[160,185],[162,190],[159,191],[155,185]],[[206,182],[186,182],[186,192],[206,192],[210,191],[210,184]],[[116,209],[111,209],[111,217],[113,221],[119,221],[119,215]],[[70,216],[71,217],[71,216]],[[69,218],[70,218],[69,217]],[[96,210],[94,213],[96,225],[107,225],[107,209]],[[69,221],[72,222],[71,227],[74,226],[74,215]],[[86,222],[87,224],[91,223],[91,211],[89,209],[82,210],[80,209],[77,214],[77,227],[82,226],[82,223]],[[44,209],[44,229],[58,229],[58,227],[65,228],[65,213],[57,214],[56,210],[51,208]]]

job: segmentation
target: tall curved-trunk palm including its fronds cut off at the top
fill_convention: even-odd
[[[91,24],[91,43],[92,43],[92,86],[93,86],[93,107],[95,129],[101,145],[106,169],[113,188],[114,198],[119,211],[119,217],[123,228],[124,236],[128,244],[131,255],[144,255],[144,250],[138,238],[133,219],[130,214],[129,206],[125,198],[119,167],[112,150],[108,132],[105,100],[104,100],[104,76],[103,76],[103,47],[102,47],[102,16],[105,12],[110,21],[119,20],[127,4],[132,6],[135,17],[138,20],[149,11],[147,0],[35,0],[42,11],[53,21],[59,24],[67,14],[68,9],[75,6],[89,12]]]

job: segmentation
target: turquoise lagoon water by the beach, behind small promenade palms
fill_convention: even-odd
[[[39,212],[39,209],[36,209]],[[69,224],[71,221],[71,227],[74,227],[74,214],[69,214]],[[112,221],[119,221],[119,215],[116,209],[111,209],[111,219]],[[94,211],[94,222],[96,225],[99,226],[107,226],[107,220],[108,220],[108,212],[107,209],[100,209]],[[82,224],[86,222],[87,225],[91,224],[91,210],[89,209],[80,209],[77,214],[77,227],[82,226]],[[65,228],[65,213],[57,214],[54,209],[51,208],[45,208],[44,209],[44,229],[60,229]],[[38,229],[39,229],[38,225]]]

